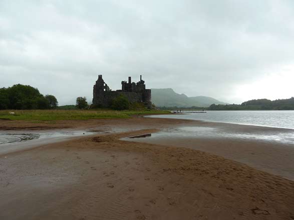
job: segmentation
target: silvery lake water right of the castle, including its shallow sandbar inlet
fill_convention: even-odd
[[[214,122],[237,123],[245,125],[258,125],[288,129],[238,131],[222,130],[212,127],[181,127],[160,131],[152,134],[151,138],[167,136],[187,136],[206,138],[239,138],[261,141],[275,141],[279,143],[294,144],[294,111],[207,111],[207,113],[185,113],[151,115],[150,117],[179,118],[192,120],[205,120]]]

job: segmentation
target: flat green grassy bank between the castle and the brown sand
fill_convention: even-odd
[[[15,114],[10,114],[10,111]],[[164,114],[164,110],[0,110],[0,119],[52,121],[52,120],[87,120],[96,118],[128,118],[132,115]]]

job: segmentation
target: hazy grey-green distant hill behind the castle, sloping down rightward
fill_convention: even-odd
[[[176,93],[172,88],[152,88],[151,99],[158,107],[208,107],[211,104],[227,104],[208,96],[188,97],[185,94]]]

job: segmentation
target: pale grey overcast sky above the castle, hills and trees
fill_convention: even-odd
[[[294,96],[293,0],[0,0],[0,87],[60,105],[143,75],[229,103]]]

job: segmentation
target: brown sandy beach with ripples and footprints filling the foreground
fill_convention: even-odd
[[[0,219],[294,219],[290,145],[122,140],[181,126],[252,126],[143,117],[0,124],[109,132],[0,155]]]

